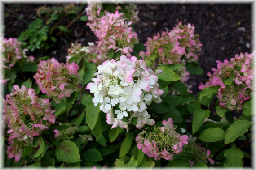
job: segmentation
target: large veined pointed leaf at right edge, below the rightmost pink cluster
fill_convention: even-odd
[[[236,138],[246,133],[249,127],[251,127],[251,125],[252,125],[252,122],[247,120],[238,120],[233,124],[231,124],[225,134],[224,144],[229,144],[230,142],[234,142]]]

